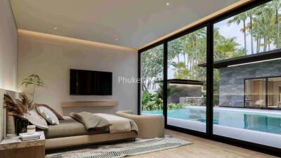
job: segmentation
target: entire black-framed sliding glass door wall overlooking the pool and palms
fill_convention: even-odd
[[[139,113],[207,138],[281,149],[281,0],[253,1],[139,51]]]

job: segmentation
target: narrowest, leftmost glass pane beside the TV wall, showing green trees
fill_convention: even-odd
[[[163,45],[141,53],[141,114],[163,114]]]

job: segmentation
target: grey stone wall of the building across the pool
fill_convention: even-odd
[[[281,60],[220,69],[219,105],[244,107],[244,79],[281,76]]]

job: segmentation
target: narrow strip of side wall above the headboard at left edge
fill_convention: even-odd
[[[0,1],[0,88],[17,91],[18,32],[9,0]]]

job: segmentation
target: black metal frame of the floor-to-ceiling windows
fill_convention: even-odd
[[[231,18],[234,15],[237,15],[239,13],[243,13],[244,11],[248,11],[251,8],[255,8],[256,6],[260,6],[262,4],[266,4],[269,1],[272,0],[259,0],[259,1],[250,1],[247,4],[244,4],[243,6],[240,6],[238,8],[234,8],[231,11],[228,11],[227,13],[223,13],[221,15],[216,16],[215,18],[211,18],[209,20],[206,20],[204,22],[201,22],[195,26],[192,26],[188,29],[183,30],[182,32],[178,32],[174,35],[171,35],[171,37],[166,37],[160,41],[157,41],[155,44],[151,44],[150,46],[146,46],[145,48],[141,48],[138,50],[138,78],[141,78],[141,53],[144,51],[149,50],[150,48],[154,48],[155,46],[159,46],[161,44],[164,44],[164,85],[163,85],[163,114],[165,118],[165,129],[171,129],[174,131],[180,131],[183,133],[188,133],[192,134],[195,136],[200,136],[202,138],[208,138],[210,140],[216,140],[218,142],[222,143],[228,143],[230,145],[235,145],[238,147],[244,147],[250,150],[255,150],[259,152],[263,152],[266,154],[272,154],[276,156],[281,156],[281,151],[280,148],[277,147],[271,147],[268,145],[261,145],[258,143],[251,143],[248,141],[244,140],[238,140],[235,138],[228,138],[225,136],[218,136],[213,133],[213,112],[214,112],[214,103],[213,103],[213,98],[214,98],[214,25],[217,22],[221,22],[222,20],[226,20],[227,18]],[[177,39],[178,37],[182,37],[186,34],[189,34],[191,32],[196,31],[197,29],[201,29],[207,27],[207,122],[206,122],[206,133],[202,133],[200,131],[194,131],[191,129],[183,129],[181,127],[177,126],[171,126],[167,125],[167,98],[166,98],[166,80],[167,80],[167,44],[169,41],[172,41],[174,39]],[[280,51],[281,49],[276,50]],[[270,52],[270,51],[266,51]],[[141,114],[141,84],[138,83],[138,114]]]

